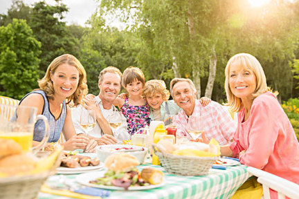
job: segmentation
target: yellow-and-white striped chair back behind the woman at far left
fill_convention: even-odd
[[[0,104],[4,105],[12,105],[12,106],[17,106],[19,105],[19,100],[17,99],[12,99],[10,97],[5,97],[0,95]],[[6,108],[0,108],[0,115],[5,119],[5,120],[10,120],[14,113],[14,108],[10,108],[7,106]],[[58,140],[58,143],[63,143],[66,142],[63,133],[60,135],[60,139]]]

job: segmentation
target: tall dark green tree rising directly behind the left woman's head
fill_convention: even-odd
[[[39,56],[39,77],[43,77],[51,61],[62,54],[69,53],[78,57],[80,46],[61,20],[66,5],[56,1],[57,5],[49,6],[44,1],[35,3],[30,17],[30,27],[38,41],[42,43],[42,54]]]

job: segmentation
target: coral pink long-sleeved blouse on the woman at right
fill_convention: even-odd
[[[299,184],[299,144],[287,115],[272,93],[253,100],[251,115],[244,121],[244,109],[238,113],[234,142],[235,157],[242,164],[262,169]],[[271,198],[277,194],[271,191]]]

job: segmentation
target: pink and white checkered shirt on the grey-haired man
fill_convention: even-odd
[[[207,106],[203,106],[199,99],[196,99],[192,115],[203,117],[203,131],[208,140],[214,138],[220,145],[228,144],[230,140],[233,140],[237,124],[219,103],[212,101]],[[178,135],[187,136],[190,139],[191,136],[187,130],[188,118],[188,115],[182,110],[174,118],[173,123],[176,125]]]

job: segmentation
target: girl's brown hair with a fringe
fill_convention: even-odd
[[[122,86],[125,88],[127,84],[132,83],[134,79],[141,81],[143,86],[145,85],[145,77],[141,69],[138,67],[129,66],[123,72]]]

